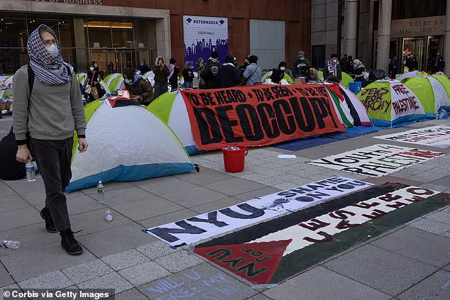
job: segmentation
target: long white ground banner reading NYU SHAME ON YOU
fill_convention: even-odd
[[[372,185],[346,177],[331,177],[143,231],[172,246],[196,243]]]

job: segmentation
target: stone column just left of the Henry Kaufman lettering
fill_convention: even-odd
[[[380,0],[380,13],[378,16],[378,48],[377,64],[378,69],[388,72],[389,65],[389,43],[390,43],[390,23],[392,19],[393,0]],[[376,4],[375,4],[376,5]]]

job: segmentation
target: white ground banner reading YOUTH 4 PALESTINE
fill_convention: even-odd
[[[373,145],[308,163],[334,170],[381,177],[441,155],[444,153],[393,145]]]

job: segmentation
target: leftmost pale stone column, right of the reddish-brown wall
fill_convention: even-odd
[[[344,53],[356,57],[356,33],[358,32],[358,0],[346,0],[346,13],[345,13],[345,48]]]

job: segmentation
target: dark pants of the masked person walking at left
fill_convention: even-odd
[[[31,138],[30,145],[45,185],[45,207],[50,211],[56,228],[67,229],[70,227],[70,221],[64,191],[72,178],[70,161],[73,138],[66,140]]]

